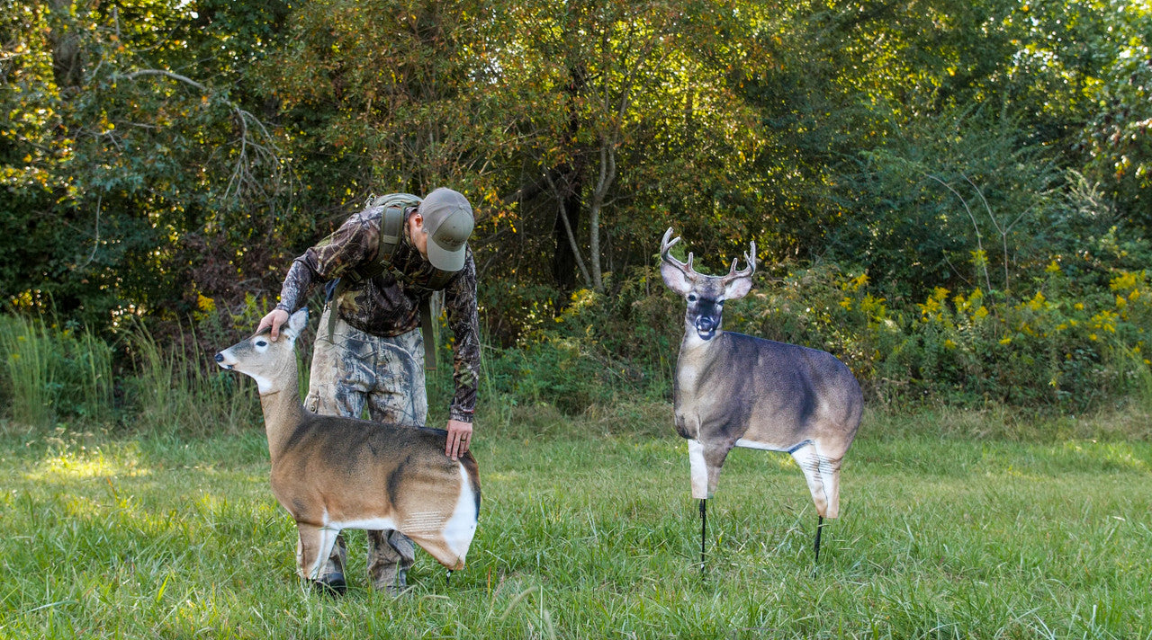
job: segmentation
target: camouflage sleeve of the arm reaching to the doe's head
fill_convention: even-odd
[[[384,207],[372,207],[350,216],[332,235],[293,260],[276,308],[296,311],[304,305],[313,284],[340,277],[349,268],[374,258],[382,211]]]

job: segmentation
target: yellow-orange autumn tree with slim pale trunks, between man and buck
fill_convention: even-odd
[[[570,287],[575,267],[584,287],[604,291],[606,261],[611,271],[615,258],[650,253],[676,204],[704,199],[712,211],[756,153],[755,119],[725,76],[736,17],[706,2],[529,7],[514,53],[528,60],[520,83],[545,108],[518,128],[535,173],[517,195],[545,193],[553,207],[556,282]]]

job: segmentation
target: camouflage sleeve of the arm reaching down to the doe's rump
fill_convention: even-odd
[[[453,344],[452,375],[456,394],[448,407],[448,417],[471,422],[480,374],[480,320],[476,310],[476,262],[471,251],[468,252],[462,273],[445,289],[444,305],[448,312],[448,325],[456,338]]]

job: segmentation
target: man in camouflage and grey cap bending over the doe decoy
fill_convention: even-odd
[[[336,288],[338,295],[320,317],[305,406],[316,413],[354,418],[366,406],[372,420],[424,426],[427,396],[419,304],[431,294],[426,285],[438,271],[453,272],[439,280],[448,276],[444,305],[455,336],[456,393],[448,410],[445,455],[456,459],[471,445],[480,363],[476,264],[467,245],[472,208],[450,189],[437,189],[418,206],[404,207],[403,234],[391,267],[356,279],[377,258],[384,213],[384,205],[370,205],[296,258],[280,290],[280,303],[259,329],[271,327],[275,341],[280,326],[304,305],[316,284],[344,276],[344,285]],[[349,284],[350,276],[358,282]],[[402,592],[415,558],[411,540],[396,531],[367,535],[372,586],[392,594]],[[341,536],[320,577],[338,592],[344,586],[346,558]]]

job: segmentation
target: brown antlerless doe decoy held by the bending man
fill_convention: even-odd
[[[476,459],[445,456],[441,429],[306,411],[294,352],[306,322],[301,310],[279,341],[266,329],[215,356],[259,387],[272,493],[296,521],[301,577],[318,579],[344,528],[400,531],[449,571],[462,569],[480,508]]]

